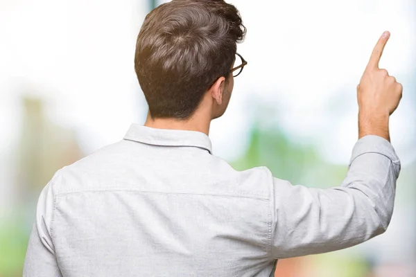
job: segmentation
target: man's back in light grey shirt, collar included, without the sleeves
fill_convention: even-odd
[[[272,176],[210,148],[202,133],[134,126],[60,170],[49,186],[62,274],[269,276]]]

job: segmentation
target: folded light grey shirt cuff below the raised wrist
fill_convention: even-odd
[[[397,157],[393,145],[388,140],[383,139],[381,136],[374,135],[363,136],[356,142],[354,149],[352,150],[352,157],[348,166],[351,166],[352,162],[357,157],[366,153],[377,153],[388,157],[388,159],[390,159],[390,161],[395,164],[395,168],[400,170],[400,160],[399,157]]]

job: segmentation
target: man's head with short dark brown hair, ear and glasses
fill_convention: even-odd
[[[234,85],[231,69],[241,62],[236,43],[244,35],[239,11],[223,0],[173,0],[150,12],[135,55],[150,116],[187,119],[199,108],[221,116]]]

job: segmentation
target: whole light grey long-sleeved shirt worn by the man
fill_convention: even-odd
[[[374,159],[392,170],[380,174],[388,188],[375,188],[376,197],[394,198],[391,151]],[[352,183],[291,186],[267,168],[234,170],[211,155],[205,134],[132,125],[123,141],[62,168],[44,188],[25,276],[273,276],[277,258],[385,230],[390,207],[354,195]],[[327,211],[332,202],[340,211]]]

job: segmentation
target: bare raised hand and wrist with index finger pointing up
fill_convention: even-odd
[[[390,141],[388,119],[399,105],[403,87],[385,69],[379,69],[381,54],[389,38],[388,32],[381,35],[357,87],[358,139],[374,134]]]

